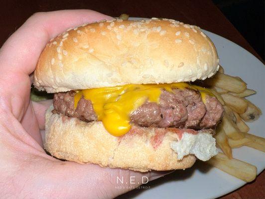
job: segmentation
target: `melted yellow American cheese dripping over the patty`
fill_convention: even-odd
[[[126,134],[131,129],[130,114],[146,100],[159,103],[161,89],[193,89],[201,93],[203,102],[206,96],[214,96],[210,90],[187,83],[172,84],[129,84],[117,87],[77,90],[75,108],[82,96],[91,100],[98,120],[103,122],[106,130],[114,136]]]

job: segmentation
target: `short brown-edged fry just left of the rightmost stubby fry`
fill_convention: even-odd
[[[248,108],[248,102],[242,98],[232,96],[230,94],[221,95],[225,104],[231,107],[237,113],[243,114]]]

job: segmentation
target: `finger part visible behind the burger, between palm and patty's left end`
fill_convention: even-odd
[[[52,100],[32,101],[32,107],[40,130],[45,129],[45,111],[51,106]]]

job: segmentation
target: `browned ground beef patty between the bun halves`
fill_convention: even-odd
[[[53,113],[62,113],[80,120],[96,121],[97,115],[92,102],[83,97],[74,108],[75,92],[54,94]],[[161,91],[159,104],[145,102],[130,117],[132,123],[139,126],[212,128],[223,116],[223,106],[214,97],[208,96],[204,104],[201,95],[190,89],[173,89],[173,92]]]

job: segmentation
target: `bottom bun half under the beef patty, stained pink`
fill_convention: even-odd
[[[165,128],[133,126],[121,137],[108,133],[102,122],[83,122],[46,111],[45,149],[54,157],[102,167],[146,172],[186,169],[195,163],[194,155],[177,160],[170,148],[177,134]]]

